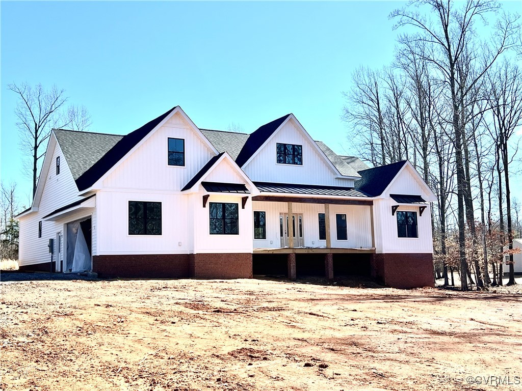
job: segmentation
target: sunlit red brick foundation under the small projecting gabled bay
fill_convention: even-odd
[[[188,264],[194,278],[252,278],[251,253],[190,254]]]

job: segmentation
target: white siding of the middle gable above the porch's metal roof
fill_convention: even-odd
[[[299,166],[276,163],[277,143],[302,145],[303,164]],[[325,162],[317,145],[312,145],[296,127],[293,119],[288,120],[242,168],[252,181],[353,187],[352,179],[335,178],[338,174]]]

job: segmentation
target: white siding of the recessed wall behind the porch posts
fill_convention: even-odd
[[[281,213],[288,213],[288,204],[253,201],[252,211],[266,212],[266,239],[253,239],[254,248],[280,248],[279,216]],[[292,212],[303,215],[304,246],[326,247],[326,240],[319,240],[318,214],[325,213],[324,204],[293,203]],[[347,240],[337,240],[336,214],[346,214]],[[296,229],[298,229],[297,226]],[[331,247],[371,248],[370,206],[330,204],[330,233]]]

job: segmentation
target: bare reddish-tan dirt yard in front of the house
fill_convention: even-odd
[[[0,389],[522,389],[520,294],[258,279],[0,288]]]

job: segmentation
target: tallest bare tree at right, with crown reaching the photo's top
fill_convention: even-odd
[[[428,13],[420,14],[418,8],[428,6]],[[414,7],[411,7],[414,6]],[[425,59],[438,74],[438,78],[446,85],[448,100],[452,108],[450,123],[453,128],[455,145],[456,177],[457,177],[457,221],[459,228],[458,247],[460,259],[460,276],[462,290],[468,290],[468,264],[466,260],[466,235],[464,197],[466,192],[466,172],[464,165],[464,147],[462,140],[465,135],[465,123],[462,122],[462,102],[483,78],[484,74],[496,62],[497,58],[509,47],[516,45],[515,33],[518,25],[515,18],[506,17],[496,24],[496,32],[492,45],[485,42],[477,43],[482,47],[482,53],[473,58],[476,72],[466,80],[465,85],[459,84],[459,65],[462,66],[466,58],[468,42],[478,40],[477,29],[474,23],[484,21],[488,14],[499,10],[499,5],[491,0],[467,0],[461,8],[454,3],[443,0],[414,1],[400,10],[394,11],[390,17],[397,20],[396,28],[413,27],[416,33],[402,35],[401,42],[408,44],[421,41],[432,47],[433,55],[422,52],[416,54]],[[414,45],[411,45],[414,47]]]

